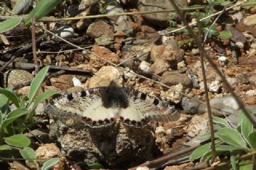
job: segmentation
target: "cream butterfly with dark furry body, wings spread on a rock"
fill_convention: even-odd
[[[54,117],[80,117],[90,128],[102,128],[115,123],[143,128],[150,121],[177,121],[174,105],[150,97],[134,89],[110,85],[67,93],[53,99],[46,113]]]

